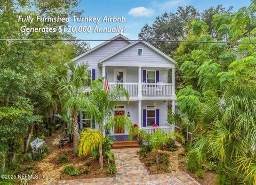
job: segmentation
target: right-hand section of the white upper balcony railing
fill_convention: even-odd
[[[142,95],[168,96],[172,95],[171,83],[142,83]]]

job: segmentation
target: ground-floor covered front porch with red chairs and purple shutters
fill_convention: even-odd
[[[131,102],[117,102],[112,115],[127,115],[135,127],[153,134],[154,130],[161,129],[166,134],[170,134],[174,128],[167,123],[167,100],[143,100]],[[155,127],[154,127],[155,126]],[[112,136],[128,135],[129,130],[110,130]]]

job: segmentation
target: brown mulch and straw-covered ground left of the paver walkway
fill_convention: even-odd
[[[26,166],[33,166],[34,174],[38,174],[39,176],[42,174],[50,176],[49,179],[30,180],[30,184],[68,179],[106,178],[115,176],[115,174],[106,174],[108,167],[108,162],[106,159],[103,159],[103,171],[101,171],[99,170],[99,160],[92,159],[91,155],[83,157],[73,155],[72,146],[69,143],[65,144],[63,148],[59,148],[57,143],[60,139],[62,139],[60,135],[61,133],[58,130],[51,137],[46,139],[46,144],[50,146],[51,149],[48,151],[47,156],[42,161],[31,161],[22,164],[23,168],[26,168]],[[65,164],[58,164],[57,158],[62,156],[67,156],[69,161]],[[74,165],[77,170],[82,170],[86,165],[90,165],[90,172],[82,173],[78,176],[66,175],[62,172],[63,167],[66,165]],[[54,176],[54,179],[51,179],[51,176]]]

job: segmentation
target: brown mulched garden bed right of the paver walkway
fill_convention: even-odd
[[[173,148],[177,148],[177,150]],[[172,150],[173,152],[171,152],[170,150]],[[201,184],[216,184],[217,174],[213,172],[206,171],[204,177],[200,179],[198,178],[196,173],[192,173],[187,170],[186,165],[181,162],[182,157],[186,154],[185,148],[178,142],[176,142],[176,145],[174,145],[171,149],[164,147],[163,150],[158,150],[158,153],[160,161],[158,169],[155,163],[156,155],[153,151],[151,151],[148,156],[140,155],[139,157],[140,161],[145,165],[149,174],[162,174],[183,171],[188,173],[192,178],[194,178],[197,182]],[[168,163],[165,162],[165,159],[163,158],[164,153],[166,153],[169,158]]]

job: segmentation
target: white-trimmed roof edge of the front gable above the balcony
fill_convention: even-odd
[[[111,58],[111,57],[117,55],[118,53],[123,52],[125,49],[130,48],[130,47],[132,47],[132,46],[134,46],[135,44],[138,44],[138,43],[142,43],[142,44],[146,45],[146,46],[149,47],[150,49],[153,49],[153,51],[155,51],[155,52],[158,53],[159,55],[165,57],[165,58],[166,58],[167,60],[169,60],[170,62],[172,62],[172,63],[174,63],[174,64],[177,64],[177,62],[175,62],[170,56],[164,54],[164,53],[161,52],[159,49],[155,48],[154,46],[152,46],[151,44],[149,44],[149,43],[147,43],[146,41],[143,41],[143,40],[134,41],[133,43],[131,43],[131,44],[129,44],[129,45],[127,45],[127,46],[125,46],[125,47],[123,47],[123,48],[117,50],[116,52],[114,52],[114,53],[112,53],[112,54],[110,54],[110,55],[108,55],[108,56],[106,56],[106,57],[104,57],[104,58],[102,58],[101,60],[98,61],[98,63],[101,63],[101,62],[103,62],[103,61],[106,61],[108,58]]]

